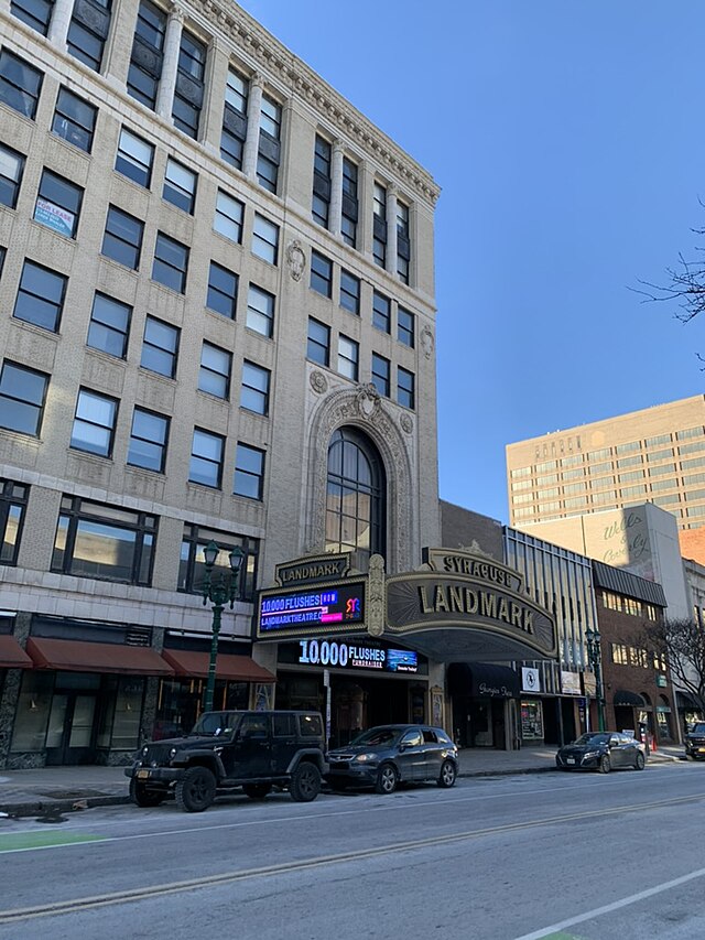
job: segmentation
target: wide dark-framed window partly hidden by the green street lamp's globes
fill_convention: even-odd
[[[242,551],[237,599],[252,601],[257,583],[259,539],[251,539],[248,536],[232,536],[217,529],[206,529],[203,526],[184,526],[178,565],[178,591],[200,595],[202,585],[206,577],[204,549],[208,542],[215,542],[220,550],[216,559],[215,571],[223,571],[226,575],[230,573],[229,553],[234,548],[239,548]]]

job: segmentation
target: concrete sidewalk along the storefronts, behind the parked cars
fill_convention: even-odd
[[[460,750],[460,777],[542,774],[554,769],[555,752],[553,746],[525,746],[521,750],[466,748]],[[682,759],[682,746],[664,747],[651,754],[649,764]],[[0,813],[51,819],[89,807],[119,806],[129,802],[128,787],[129,780],[122,767],[0,770]]]

